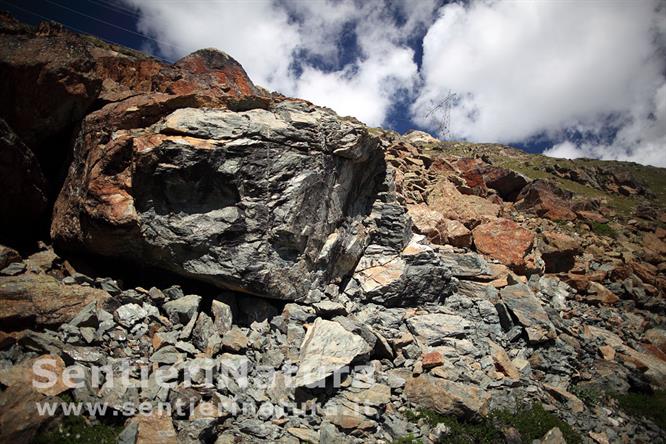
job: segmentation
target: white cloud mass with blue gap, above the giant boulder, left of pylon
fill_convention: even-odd
[[[414,7],[407,0],[122,1],[137,10],[139,31],[164,56],[217,47],[262,86],[377,126],[413,93],[418,68],[407,42],[431,23],[437,6],[435,0]]]

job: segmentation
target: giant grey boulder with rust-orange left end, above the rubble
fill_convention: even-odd
[[[350,271],[336,264],[360,253],[346,239],[383,172],[361,125],[283,102],[179,109],[96,139],[110,112],[93,113],[79,135],[54,213],[60,246],[278,299]]]

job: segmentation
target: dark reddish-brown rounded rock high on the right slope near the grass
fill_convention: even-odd
[[[553,221],[574,220],[574,213],[567,199],[571,196],[544,180],[530,182],[518,195],[516,208],[530,211]]]

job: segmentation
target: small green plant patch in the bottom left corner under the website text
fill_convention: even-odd
[[[64,416],[37,434],[32,444],[115,444],[122,430],[120,425],[91,424],[82,416]]]

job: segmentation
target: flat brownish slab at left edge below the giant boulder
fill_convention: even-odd
[[[62,285],[44,274],[0,277],[0,320],[3,324],[35,322],[57,325],[73,319],[91,302],[103,305],[108,293],[82,285]]]

